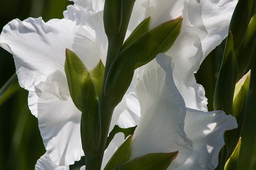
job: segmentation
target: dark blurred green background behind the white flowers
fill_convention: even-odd
[[[46,22],[52,18],[63,18],[68,0],[0,0],[0,32],[9,21],[42,16]],[[222,61],[225,41],[222,42],[202,63],[196,80],[202,84],[208,98],[208,110],[213,110],[213,94],[216,78]],[[256,48],[254,48],[256,49]],[[238,169],[256,169],[256,50],[248,70],[251,69],[251,84],[247,111],[242,131],[242,148]],[[15,73],[12,55],[0,47],[0,88]],[[36,161],[46,150],[42,143],[38,120],[28,109],[28,92],[20,88],[16,79],[7,94],[0,99],[0,170],[32,170]],[[70,166],[76,170],[84,159]]]

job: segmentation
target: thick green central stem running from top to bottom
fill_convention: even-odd
[[[130,20],[130,16],[132,14],[132,8],[134,6],[134,2],[135,0],[122,0],[122,22],[121,22],[120,31],[117,35],[111,35],[112,34],[111,31],[107,33],[108,53],[107,53],[107,59],[105,64],[105,70],[104,70],[102,91],[100,96],[100,119],[101,119],[100,147],[98,149],[98,152],[86,153],[86,170],[100,170],[101,168],[103,154],[105,151],[106,142],[108,138],[110,122],[111,122],[114,108],[116,107],[116,104],[113,104],[113,102],[110,99],[104,96],[105,83],[108,75],[108,70],[110,69],[112,61],[122,49],[128,23]],[[104,8],[104,15],[108,14],[108,10],[112,10],[112,7],[114,8],[114,6],[111,6],[110,9]],[[110,15],[110,20],[111,20],[111,15]],[[106,19],[106,21],[104,20],[104,25],[105,25],[105,22],[107,23],[108,19]],[[105,26],[106,26],[105,29],[108,29],[108,26],[107,25]]]

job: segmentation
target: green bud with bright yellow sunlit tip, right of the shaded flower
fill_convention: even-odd
[[[238,143],[238,140],[242,133],[249,87],[250,71],[236,83],[231,115],[236,117],[238,128],[225,132],[225,136],[228,142],[228,145],[226,147],[229,148],[228,157],[232,154],[233,150],[235,149],[236,144]]]

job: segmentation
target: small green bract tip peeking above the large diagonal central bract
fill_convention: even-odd
[[[124,41],[124,45],[122,49],[130,45],[133,41],[138,39],[141,35],[143,35],[149,29],[150,16],[143,20],[135,29],[132,31],[131,35]]]

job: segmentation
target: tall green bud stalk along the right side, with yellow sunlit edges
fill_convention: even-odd
[[[250,80],[244,82],[244,88],[241,89],[239,88],[241,83],[238,83],[236,88],[239,90],[235,92],[235,96],[234,89],[236,82],[240,80],[247,70],[254,51],[256,42],[255,12],[256,1],[239,0],[230,22],[230,33],[214,92],[214,109],[222,109],[226,114],[232,114],[236,117],[238,129],[225,133],[226,146],[222,148],[219,154],[220,159],[217,169],[224,168],[223,162],[226,162],[226,159],[234,150],[245,119],[246,98]],[[231,35],[234,35],[234,37],[231,37]],[[226,57],[228,56],[226,51],[232,51],[232,57]]]

